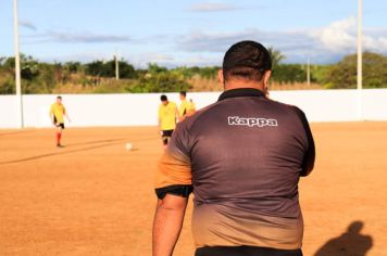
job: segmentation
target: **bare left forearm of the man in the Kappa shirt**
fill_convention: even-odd
[[[166,194],[158,201],[153,221],[153,256],[171,256],[180,234],[188,197]]]

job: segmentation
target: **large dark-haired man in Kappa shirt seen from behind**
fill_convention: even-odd
[[[234,44],[219,102],[178,124],[157,174],[153,256],[173,254],[192,190],[196,256],[302,255],[314,142],[302,111],[265,98],[271,67],[262,44]]]

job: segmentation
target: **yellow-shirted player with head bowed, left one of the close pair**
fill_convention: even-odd
[[[168,101],[166,95],[160,97],[159,106],[159,128],[163,145],[166,148],[174,129],[176,128],[176,117],[179,116],[177,106],[174,102]]]

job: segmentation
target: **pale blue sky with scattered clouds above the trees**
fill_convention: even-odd
[[[0,56],[13,54],[13,1],[0,0]],[[21,51],[41,61],[219,65],[244,39],[286,62],[355,52],[357,0],[18,0]],[[387,1],[364,0],[366,50],[387,53]]]

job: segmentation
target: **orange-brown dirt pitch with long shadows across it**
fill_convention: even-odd
[[[304,255],[387,255],[387,123],[312,129]],[[52,129],[0,130],[0,255],[150,255],[157,129],[70,128],[63,142]],[[194,252],[190,207],[177,256]]]

